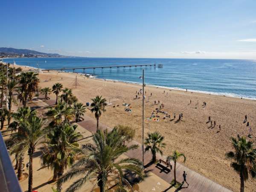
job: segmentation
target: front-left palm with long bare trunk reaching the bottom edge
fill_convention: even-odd
[[[35,152],[35,147],[41,143],[44,138],[44,131],[42,130],[42,119],[37,116],[32,116],[31,119],[27,119],[22,122],[23,133],[17,132],[12,138],[19,141],[13,145],[13,150],[28,150],[29,154],[29,184],[28,192],[32,192],[33,185],[33,154]]]

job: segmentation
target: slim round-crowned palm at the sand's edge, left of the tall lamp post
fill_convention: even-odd
[[[92,113],[95,113],[95,118],[97,119],[97,130],[99,129],[99,117],[102,115],[102,112],[105,112],[105,106],[107,105],[107,100],[104,98],[102,99],[102,96],[96,96],[94,99],[92,99],[91,109]]]

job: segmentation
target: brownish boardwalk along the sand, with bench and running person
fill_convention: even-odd
[[[49,105],[52,105],[53,101],[51,100],[47,100],[47,103],[49,103]],[[88,131],[90,131],[91,133],[96,132],[96,119],[93,119],[89,116],[84,116],[84,121],[78,122],[78,125],[80,125],[81,127],[87,129]],[[108,128],[108,126],[99,123],[99,129],[106,129]],[[111,128],[108,128],[109,130],[111,130]],[[126,155],[128,157],[136,157],[140,160],[142,160],[142,147],[141,144],[138,143],[137,141],[132,141],[130,142],[128,145],[131,144],[137,144],[140,147],[129,151]],[[161,158],[163,160],[166,159],[165,156],[158,156],[158,159]],[[151,153],[150,152],[145,152],[144,154],[144,162],[145,162],[145,167],[148,171],[154,173],[155,175],[157,175],[158,177],[161,177],[163,180],[165,180],[167,183],[171,183],[171,181],[173,180],[174,176],[173,176],[173,170],[170,170],[168,168],[166,168],[163,165],[160,164],[151,164]],[[172,162],[172,167],[174,168],[174,163]],[[183,171],[186,171],[187,173],[187,182],[189,183],[189,186],[187,186],[186,184],[183,184],[178,190],[183,191],[183,192],[231,192],[230,189],[225,188],[224,186],[221,186],[218,183],[215,183],[214,181],[208,179],[207,177],[204,177],[203,175],[192,171],[191,169],[187,168],[186,166],[177,163],[176,165],[176,176],[177,176],[177,181],[183,181]],[[156,189],[155,189],[156,190]],[[176,191],[178,191],[176,190]],[[151,190],[154,191],[154,190]],[[157,191],[157,190],[156,190]],[[169,191],[168,188],[166,188],[163,191]]]

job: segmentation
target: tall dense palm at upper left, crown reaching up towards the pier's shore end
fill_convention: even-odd
[[[20,97],[22,99],[22,104],[26,107],[28,99],[32,99],[33,94],[37,90],[39,79],[37,78],[37,74],[29,71],[20,73]]]

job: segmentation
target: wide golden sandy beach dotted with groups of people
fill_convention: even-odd
[[[28,68],[25,67],[25,69]],[[76,75],[77,88],[75,88]],[[142,88],[141,85],[87,79],[76,73],[40,73],[39,78],[42,88],[52,87],[56,82],[71,88],[79,102],[83,102],[84,105],[86,102],[91,102],[91,98],[102,95],[110,105],[100,117],[100,122],[109,127],[117,124],[129,125],[136,130],[135,139],[141,140],[142,96],[139,95],[140,99],[135,97],[136,91]],[[146,86],[145,91],[145,132],[157,130],[165,136],[164,154],[171,154],[177,149],[186,155],[185,166],[233,191],[239,191],[239,175],[230,168],[230,160],[226,160],[224,154],[232,150],[230,137],[249,134],[249,127],[243,123],[245,115],[255,140],[256,101],[153,86]],[[55,99],[55,94],[51,93],[49,97]],[[163,119],[167,115],[158,113],[160,117],[157,117],[159,119],[157,122],[149,117],[156,108],[159,108],[160,104],[154,105],[154,101],[158,103],[158,100],[164,105],[161,111],[167,112],[170,118]],[[203,102],[207,103],[206,107],[202,106]],[[132,111],[125,111],[123,103],[131,104],[129,107]],[[176,119],[172,120],[174,113],[176,113]],[[176,122],[180,113],[183,113],[183,119]],[[90,110],[87,110],[86,115],[94,117]],[[212,124],[216,122],[215,127],[210,127],[210,123],[206,123],[209,116]],[[221,131],[219,131],[219,125],[221,125]],[[245,183],[245,190],[253,191],[254,186],[255,181],[249,179]]]

